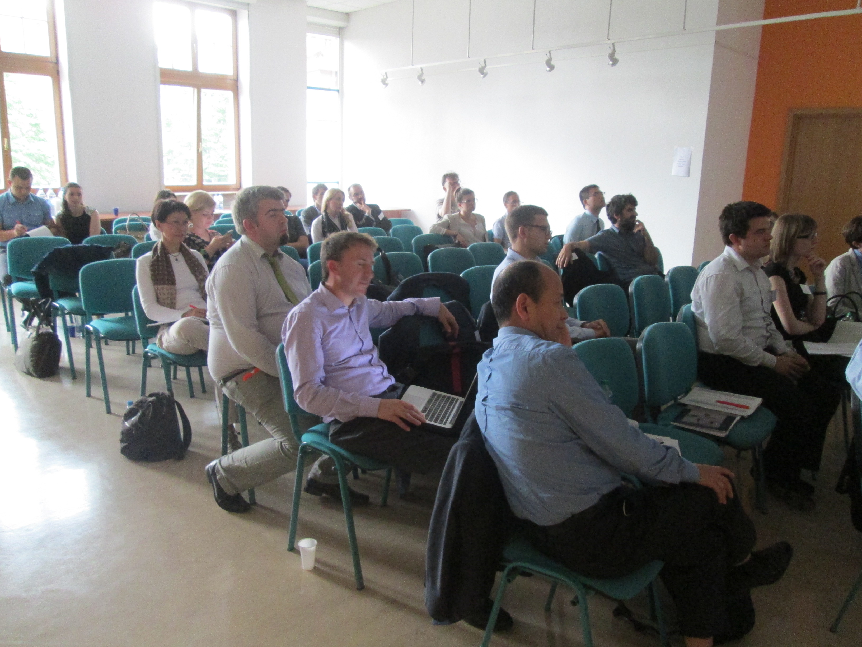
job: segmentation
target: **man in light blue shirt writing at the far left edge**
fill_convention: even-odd
[[[0,280],[8,273],[6,245],[13,238],[45,225],[57,236],[57,226],[51,217],[51,205],[45,198],[30,192],[33,173],[26,166],[16,166],[9,172],[9,191],[0,194]]]

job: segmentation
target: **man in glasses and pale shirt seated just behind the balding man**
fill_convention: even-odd
[[[494,289],[497,277],[506,267],[517,261],[535,261],[539,254],[547,249],[547,242],[551,240],[547,211],[535,204],[524,204],[513,210],[506,218],[506,228],[509,229],[512,247],[506,253],[506,258],[494,270],[491,290]],[[573,341],[580,342],[593,337],[610,336],[608,324],[605,324],[603,319],[580,321],[570,317],[565,324]]]

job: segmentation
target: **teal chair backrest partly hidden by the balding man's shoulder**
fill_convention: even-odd
[[[573,348],[600,385],[608,382],[610,401],[631,418],[640,398],[640,387],[638,369],[628,342],[619,337],[587,339]]]

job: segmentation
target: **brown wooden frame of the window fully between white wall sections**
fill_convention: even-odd
[[[236,11],[224,9],[209,4],[189,2],[188,0],[161,0],[169,4],[179,4],[188,7],[191,12],[191,71],[174,70],[169,67],[159,67],[159,85],[181,85],[191,87],[195,90],[195,110],[197,120],[197,183],[194,185],[166,185],[173,192],[192,192],[203,190],[206,192],[231,192],[240,189],[240,92],[237,70],[237,34],[236,34]],[[231,18],[233,40],[234,40],[234,72],[233,74],[212,74],[197,71],[197,27],[195,25],[195,9],[206,9],[223,13]],[[201,91],[223,90],[234,93],[234,163],[236,169],[234,177],[236,182],[231,185],[204,185],[203,184],[203,141],[201,137]],[[161,98],[159,97],[159,110]],[[160,122],[159,122],[160,123]],[[164,172],[165,158],[162,153],[162,169]]]

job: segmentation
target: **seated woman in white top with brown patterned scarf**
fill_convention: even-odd
[[[161,324],[156,344],[177,355],[191,355],[209,345],[207,265],[199,252],[183,243],[190,222],[187,205],[177,200],[159,203],[153,225],[161,240],[137,265],[141,305],[147,317]]]

